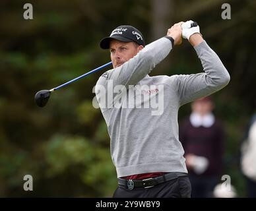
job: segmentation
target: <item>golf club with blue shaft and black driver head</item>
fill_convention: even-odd
[[[71,84],[72,82],[75,82],[76,80],[79,80],[80,78],[83,78],[85,76],[88,76],[92,73],[95,73],[96,71],[99,71],[100,69],[103,69],[104,67],[107,67],[109,65],[112,65],[112,61],[110,61],[109,63],[106,63],[105,65],[102,65],[88,73],[85,73],[84,75],[81,75],[77,78],[74,78],[73,80],[69,80],[68,82],[65,82],[65,84],[61,84],[60,86],[57,86],[55,88],[52,88],[51,90],[41,90],[39,92],[36,93],[35,95],[35,102],[36,105],[38,105],[39,107],[44,107],[46,106],[48,100],[49,100],[49,96],[51,95],[51,92],[54,92],[55,90],[58,90],[59,88],[63,87],[63,86],[67,86],[67,84]]]

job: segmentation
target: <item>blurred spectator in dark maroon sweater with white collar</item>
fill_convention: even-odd
[[[179,140],[185,151],[192,197],[212,197],[222,173],[224,131],[212,113],[210,97],[195,100],[191,108],[191,115],[179,127]]]

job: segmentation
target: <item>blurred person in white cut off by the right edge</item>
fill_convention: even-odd
[[[247,181],[247,196],[256,197],[256,114],[253,115],[241,146],[241,171]]]

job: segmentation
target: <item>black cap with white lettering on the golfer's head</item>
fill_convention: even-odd
[[[136,42],[139,45],[145,46],[143,34],[133,26],[118,26],[109,37],[103,38],[100,41],[100,47],[102,49],[109,49],[111,39],[121,42]]]

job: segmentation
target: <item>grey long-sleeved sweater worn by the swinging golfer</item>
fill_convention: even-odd
[[[203,73],[148,76],[171,49],[172,42],[160,38],[104,73],[95,86],[117,177],[187,173],[178,134],[179,107],[224,88],[230,81],[228,71],[205,41],[195,47]]]

